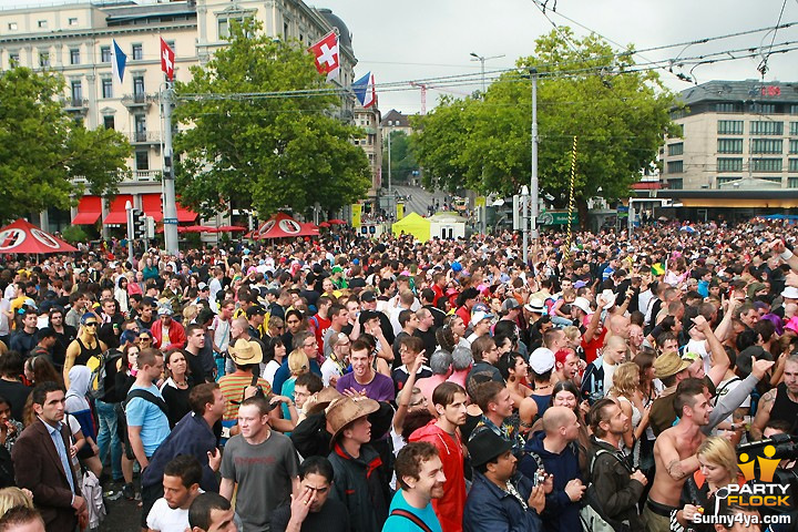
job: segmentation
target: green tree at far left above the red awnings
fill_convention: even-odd
[[[64,80],[53,72],[14,68],[0,73],[0,217],[12,219],[48,207],[69,208],[83,185],[116,192],[131,146],[113,130],[86,130],[64,110]]]

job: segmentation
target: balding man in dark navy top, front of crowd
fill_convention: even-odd
[[[554,475],[554,488],[546,494],[541,518],[546,531],[581,530],[580,500],[587,488],[582,482],[579,463],[580,423],[576,415],[566,407],[549,407],[543,412],[543,430],[526,442],[526,454],[519,471],[534,479],[539,470]]]

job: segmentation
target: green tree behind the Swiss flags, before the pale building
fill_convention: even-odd
[[[190,125],[175,140],[181,203],[212,215],[246,200],[265,216],[315,203],[336,209],[362,197],[369,164],[350,142],[362,131],[334,117],[335,94],[285,94],[332,85],[300,43],[274,41],[259,29],[252,20],[234,24],[229,44],[176,85],[175,116]]]

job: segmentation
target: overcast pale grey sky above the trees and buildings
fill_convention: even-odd
[[[485,70],[510,69],[520,57],[534,51],[534,41],[552,30],[552,24],[532,0],[318,0],[318,8],[329,8],[352,33],[352,47],[359,63],[356,74],[375,74],[376,83],[479,73],[483,57],[504,55],[485,61]],[[798,1],[760,0],[559,0],[546,14],[557,24],[571,25],[577,35],[589,30],[577,27],[557,13],[584,24],[596,33],[621,44],[645,48],[694,41],[757,28],[775,27],[785,6],[781,23],[798,21]],[[713,43],[672,48],[636,57],[640,62],[700,55],[707,52],[741,48],[767,48],[773,32],[726,39]],[[798,41],[798,25],[779,30],[776,43]],[[693,72],[699,83],[709,80],[759,79],[760,58],[740,59],[715,65],[700,65]],[[798,81],[798,51],[774,54],[767,81]],[[692,66],[683,72],[689,74]],[[679,71],[679,69],[675,69]],[[688,83],[663,72],[665,84],[684,90]],[[479,89],[457,88],[459,92]],[[431,109],[441,93],[430,90],[427,106]],[[457,94],[456,94],[457,95]],[[420,111],[418,90],[378,93],[379,108],[412,114]]]

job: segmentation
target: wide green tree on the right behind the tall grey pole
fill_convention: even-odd
[[[561,28],[536,41],[484,100],[448,100],[417,119],[413,144],[430,185],[458,183],[480,192],[518,193],[531,173],[531,82],[539,72],[539,180],[555,206],[569,200],[573,137],[574,197],[586,223],[587,198],[628,194],[673,132],[674,94],[653,71],[634,68],[632,49],[616,51],[595,35]],[[601,192],[600,192],[601,190]]]

